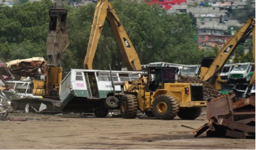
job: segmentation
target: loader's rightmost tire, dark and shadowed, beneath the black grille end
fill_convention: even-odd
[[[200,107],[179,108],[178,116],[184,120],[194,120],[201,115],[201,112]]]

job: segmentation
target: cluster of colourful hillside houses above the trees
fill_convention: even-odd
[[[227,35],[229,26],[242,26],[238,20],[231,20],[231,9],[245,5],[246,0],[145,0],[157,4],[168,13],[192,13],[196,17],[199,48],[222,48],[232,35]],[[232,31],[231,33],[234,33]]]

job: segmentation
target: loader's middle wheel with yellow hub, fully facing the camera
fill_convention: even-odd
[[[171,95],[159,95],[153,102],[153,115],[157,119],[174,119],[179,112],[179,102]]]

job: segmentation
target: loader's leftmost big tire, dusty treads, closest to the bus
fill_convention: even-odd
[[[138,111],[138,101],[135,95],[124,95],[120,103],[121,116],[125,119],[135,118]]]

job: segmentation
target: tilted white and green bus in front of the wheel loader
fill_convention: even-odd
[[[96,117],[106,117],[108,110],[119,108],[118,93],[125,91],[124,81],[138,80],[141,74],[71,69],[60,85],[60,109],[62,112],[94,112]]]

